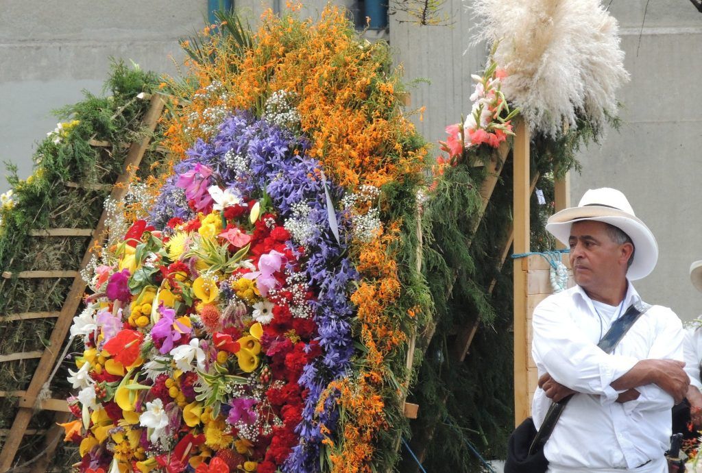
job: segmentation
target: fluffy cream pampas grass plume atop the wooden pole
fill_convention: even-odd
[[[558,135],[588,119],[600,129],[616,114],[616,90],[629,80],[618,23],[599,0],[475,0],[476,41],[496,46],[508,72],[502,90],[532,129]]]

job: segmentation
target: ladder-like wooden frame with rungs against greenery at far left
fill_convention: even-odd
[[[117,181],[114,182],[114,185],[110,186],[112,188],[110,198],[114,199],[115,201],[120,201],[126,195],[128,185],[133,179],[136,170],[139,168],[141,159],[149,146],[151,140],[150,134],[156,129],[156,125],[161,117],[161,112],[164,109],[164,105],[166,105],[166,102],[161,95],[154,94],[151,96],[150,108],[142,121],[143,128],[145,128],[149,134],[140,142],[133,142],[129,147],[126,159],[124,160],[123,171],[117,178]],[[1,320],[7,321],[57,317],[53,331],[51,332],[51,337],[49,338],[48,348],[46,348],[44,352],[15,354],[15,356],[20,356],[20,358],[15,359],[41,359],[39,360],[37,369],[34,371],[32,381],[29,382],[29,387],[27,387],[27,390],[9,393],[9,395],[19,396],[20,400],[18,403],[17,414],[15,415],[12,427],[8,431],[5,444],[0,452],[0,472],[2,473],[7,472],[8,469],[12,467],[15,455],[20,448],[22,438],[25,436],[25,434],[27,434],[27,426],[29,425],[29,421],[32,419],[32,415],[34,415],[39,392],[41,392],[41,388],[51,375],[51,371],[53,370],[57,361],[60,362],[60,360],[58,360],[58,356],[60,354],[61,347],[66,341],[73,317],[77,312],[87,286],[86,282],[82,279],[80,272],[87,267],[88,262],[90,262],[91,258],[93,258],[95,248],[99,248],[102,244],[107,230],[106,220],[107,211],[103,210],[100,220],[98,220],[98,225],[95,227],[95,229],[48,229],[32,232],[32,235],[36,234],[37,236],[85,237],[92,235],[92,238],[90,244],[88,244],[88,250],[81,260],[80,269],[78,271],[24,271],[17,275],[17,277],[73,277],[74,279],[63,307],[58,314],[56,312],[29,312],[25,314],[9,314],[1,318]],[[2,274],[2,277],[13,277],[13,274],[6,272]],[[13,355],[8,356],[11,357]],[[6,359],[4,361],[8,360]],[[69,412],[67,403],[63,399],[48,399],[46,401],[42,401],[41,409],[57,411],[58,413]],[[55,450],[56,446],[58,446],[58,441],[52,442],[52,440],[53,439],[47,439],[46,452],[44,455],[42,455],[43,458],[51,458],[53,451]],[[35,469],[33,471],[42,471],[44,468],[46,468],[46,460],[39,458],[38,462],[34,466]],[[39,467],[39,470],[36,469],[37,467]]]

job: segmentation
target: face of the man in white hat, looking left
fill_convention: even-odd
[[[623,246],[631,245],[613,241],[607,224],[595,220],[575,222],[571,225],[568,242],[573,277],[579,286],[596,290],[621,279],[621,271],[628,260]]]

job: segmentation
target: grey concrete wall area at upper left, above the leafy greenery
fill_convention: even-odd
[[[81,100],[81,90],[100,93],[110,57],[175,74],[178,38],[204,27],[206,13],[206,0],[2,0],[0,161],[26,178],[35,143],[56,126],[51,110]]]

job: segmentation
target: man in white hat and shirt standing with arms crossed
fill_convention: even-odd
[[[624,194],[609,188],[588,190],[577,207],[552,215],[546,229],[569,245],[577,284],[534,310],[536,428],[552,401],[574,394],[545,444],[548,471],[667,473],[670,409],[689,385],[680,319],[654,305],[611,354],[597,347],[640,302],[630,281],[654,269],[656,239]]]

